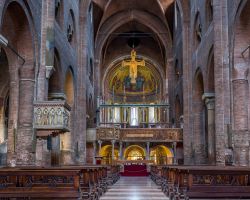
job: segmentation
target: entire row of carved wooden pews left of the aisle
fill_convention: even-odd
[[[119,179],[119,166],[0,169],[0,200],[98,200]]]

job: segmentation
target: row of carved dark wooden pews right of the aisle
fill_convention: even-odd
[[[250,198],[250,168],[151,166],[151,178],[172,199]]]

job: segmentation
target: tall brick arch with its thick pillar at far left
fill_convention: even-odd
[[[15,87],[10,87],[9,120],[13,123],[8,128],[8,161],[16,160],[17,165],[32,165],[35,163],[32,123],[37,38],[27,2],[6,1],[1,22],[1,33],[20,55],[18,57],[5,48],[10,79],[15,84]]]

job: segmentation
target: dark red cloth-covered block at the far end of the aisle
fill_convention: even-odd
[[[148,176],[147,165],[124,165],[122,176]]]

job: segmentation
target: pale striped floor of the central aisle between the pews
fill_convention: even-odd
[[[149,177],[121,177],[101,200],[168,200]]]

